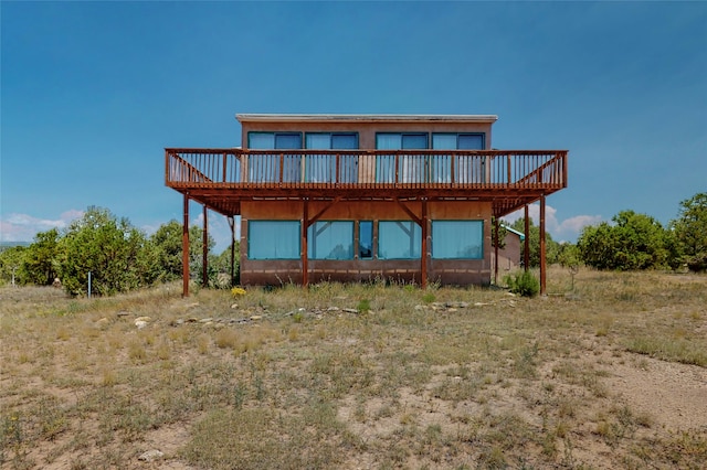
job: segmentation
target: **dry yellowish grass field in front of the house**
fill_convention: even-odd
[[[150,468],[700,468],[707,416],[616,381],[679,367],[699,385],[707,277],[549,281],[536,299],[286,285],[238,308],[177,286],[0,288],[0,467],[134,468],[157,448]]]

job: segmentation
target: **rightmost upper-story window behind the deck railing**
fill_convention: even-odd
[[[432,148],[434,150],[484,150],[484,133],[433,133]],[[431,178],[435,182],[452,180],[452,157],[435,156],[431,162]],[[486,157],[457,156],[454,174],[457,183],[483,183],[485,178]]]

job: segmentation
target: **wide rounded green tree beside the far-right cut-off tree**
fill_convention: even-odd
[[[668,266],[671,235],[650,215],[622,211],[597,226],[587,226],[578,239],[582,260],[597,269],[651,269]]]

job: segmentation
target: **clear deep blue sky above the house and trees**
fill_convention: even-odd
[[[181,220],[163,148],[238,146],[236,113],[498,115],[495,148],[570,151],[557,241],[626,209],[667,224],[707,191],[707,2],[0,9],[2,241],[91,205]]]

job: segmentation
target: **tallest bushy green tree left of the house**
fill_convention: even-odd
[[[60,276],[71,295],[86,292],[88,273],[92,292],[112,295],[149,284],[145,235],[127,218],[108,210],[88,207],[74,221],[61,241]]]

